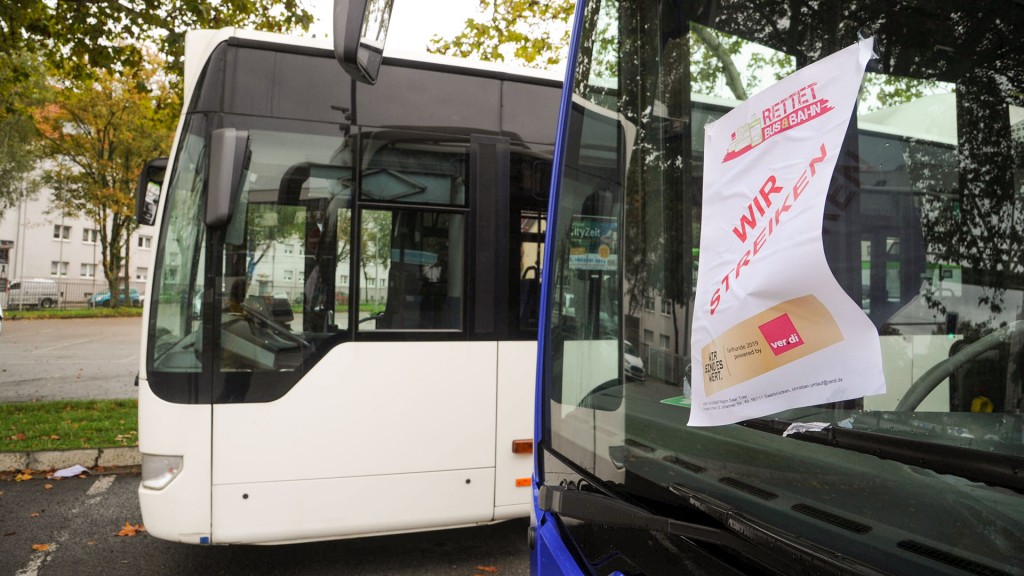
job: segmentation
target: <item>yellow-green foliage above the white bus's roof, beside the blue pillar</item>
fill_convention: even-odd
[[[465,30],[445,40],[435,36],[428,50],[485,61],[511,56],[534,68],[551,68],[564,59],[568,47],[573,0],[480,0],[485,20],[469,18]]]

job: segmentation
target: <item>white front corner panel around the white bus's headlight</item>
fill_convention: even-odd
[[[139,452],[184,456],[181,474],[163,490],[139,486],[142,523],[157,538],[198,544],[210,536],[211,409],[165,402],[139,380]]]

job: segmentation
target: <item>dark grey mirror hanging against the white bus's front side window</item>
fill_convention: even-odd
[[[207,227],[222,228],[231,221],[250,157],[248,130],[220,128],[213,131],[206,197]]]

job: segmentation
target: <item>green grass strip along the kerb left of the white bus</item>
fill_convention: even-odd
[[[0,452],[138,446],[135,400],[0,404]]]

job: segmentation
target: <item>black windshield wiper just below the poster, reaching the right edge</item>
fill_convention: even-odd
[[[794,422],[757,418],[740,422],[752,429],[782,436]],[[1024,492],[1024,458],[1011,454],[985,452],[951,444],[870,433],[838,425],[820,431],[800,431],[795,440],[823,444],[879,458],[894,460],[938,474],[958,476],[989,486]]]

